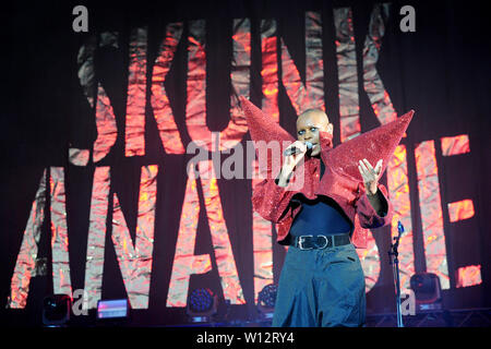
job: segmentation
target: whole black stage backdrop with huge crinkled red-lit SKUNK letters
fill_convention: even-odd
[[[76,4],[87,32],[74,31]],[[490,306],[484,10],[406,4],[11,5],[3,313],[39,323],[45,296],[85,294],[89,314],[100,299],[128,298],[134,324],[172,325],[187,321],[188,293],[209,288],[219,318],[255,318],[286,249],[252,210],[256,160],[239,96],[291,134],[300,112],[323,108],[335,144],[415,109],[381,180],[392,227],[358,250],[368,311],[395,311],[387,251],[397,221],[403,289],[430,272],[446,308]]]

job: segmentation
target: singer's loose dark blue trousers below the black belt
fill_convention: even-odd
[[[288,249],[273,327],[363,326],[364,275],[355,246]]]

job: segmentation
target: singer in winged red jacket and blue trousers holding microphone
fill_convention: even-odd
[[[261,109],[244,98],[241,103],[254,141],[288,137]],[[356,248],[366,246],[362,228],[391,224],[392,204],[379,180],[412,112],[336,148],[324,111],[298,117],[297,141],[285,152],[279,174],[255,185],[252,196],[254,209],[278,225],[278,242],[289,245],[274,327],[364,325],[366,284]],[[301,166],[303,188],[289,190]]]

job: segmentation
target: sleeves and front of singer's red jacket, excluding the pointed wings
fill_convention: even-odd
[[[313,198],[320,189],[320,173],[321,161],[319,158],[306,157],[304,160],[306,177],[311,180],[306,181],[302,194],[308,198]],[[351,234],[351,242],[358,249],[367,248],[367,229],[379,228],[391,224],[393,216],[393,206],[387,200],[387,190],[383,184],[379,184],[379,190],[383,194],[387,203],[387,213],[385,216],[379,216],[375,209],[370,204],[367,196],[364,185],[360,182],[358,190],[345,190],[343,176],[333,171],[330,166],[326,166],[324,177],[331,177],[330,182],[337,182],[337,185],[332,186],[332,197],[345,212],[347,217],[354,225]],[[300,205],[291,203],[292,196],[298,191],[289,191],[288,186],[283,188],[275,183],[273,179],[266,179],[254,186],[252,195],[252,205],[264,219],[277,224],[277,242],[282,243],[288,236],[291,224],[295,217],[300,212]]]

